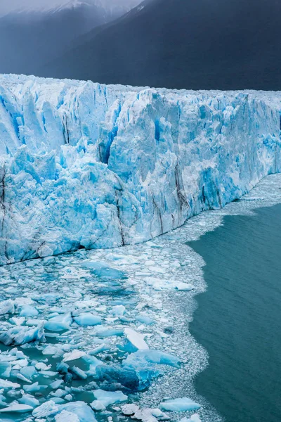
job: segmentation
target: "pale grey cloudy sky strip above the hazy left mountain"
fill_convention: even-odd
[[[141,3],[141,0],[0,0],[0,15],[4,15],[18,9],[41,10],[50,9],[67,3],[75,2],[93,2],[94,4],[103,4],[104,6],[128,6],[129,8]]]

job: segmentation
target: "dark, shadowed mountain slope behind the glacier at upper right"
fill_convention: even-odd
[[[154,0],[39,74],[187,89],[281,89],[281,2]]]

